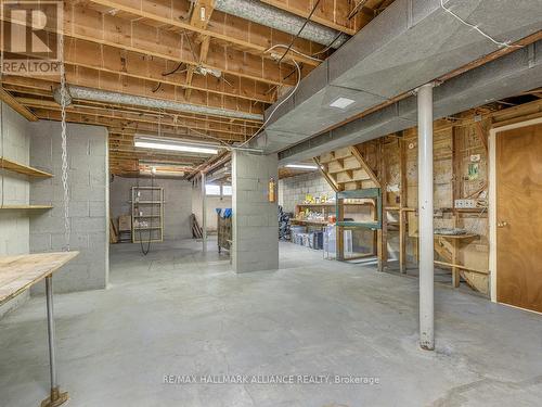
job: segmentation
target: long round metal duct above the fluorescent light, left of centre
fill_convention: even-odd
[[[189,104],[189,103],[180,103],[172,102],[163,99],[153,99],[145,97],[137,97],[132,94],[119,93],[119,92],[109,92],[105,90],[85,88],[81,86],[72,86],[67,87],[67,91],[69,93],[69,98],[67,100],[89,100],[93,102],[103,102],[103,103],[115,103],[115,104],[127,104],[131,106],[145,106],[153,109],[164,109],[168,111],[178,111],[178,112],[188,112],[195,114],[204,114],[204,115],[214,115],[214,116],[224,116],[231,118],[238,119],[247,119],[247,120],[263,120],[263,115],[256,113],[245,113],[237,112],[228,109],[218,109],[218,107],[208,107],[202,106],[197,104]],[[61,102],[61,91],[60,87],[53,91],[54,100],[60,104]]]

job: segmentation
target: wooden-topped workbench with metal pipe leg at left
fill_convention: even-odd
[[[60,406],[68,399],[67,393],[61,393],[56,384],[52,275],[78,254],[62,252],[0,257],[0,305],[46,279],[51,393],[41,407]]]

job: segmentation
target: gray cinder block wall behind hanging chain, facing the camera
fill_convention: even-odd
[[[57,252],[64,241],[61,124],[29,123],[30,165],[54,174],[30,185],[30,203],[53,209],[30,218],[30,252]],[[108,157],[104,127],[67,126],[70,250],[80,254],[54,276],[54,290],[103,289],[108,279]],[[44,291],[36,284],[33,293]]]

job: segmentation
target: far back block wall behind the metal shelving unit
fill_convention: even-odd
[[[140,187],[151,187],[151,178],[140,178]],[[111,214],[131,215],[131,188],[138,186],[136,178],[115,177],[109,186]],[[155,178],[155,187],[164,188],[164,240],[189,239],[192,214],[192,183],[172,178]],[[143,240],[145,236],[143,236]]]

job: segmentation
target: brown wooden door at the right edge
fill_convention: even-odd
[[[542,313],[542,124],[496,135],[496,300]]]

